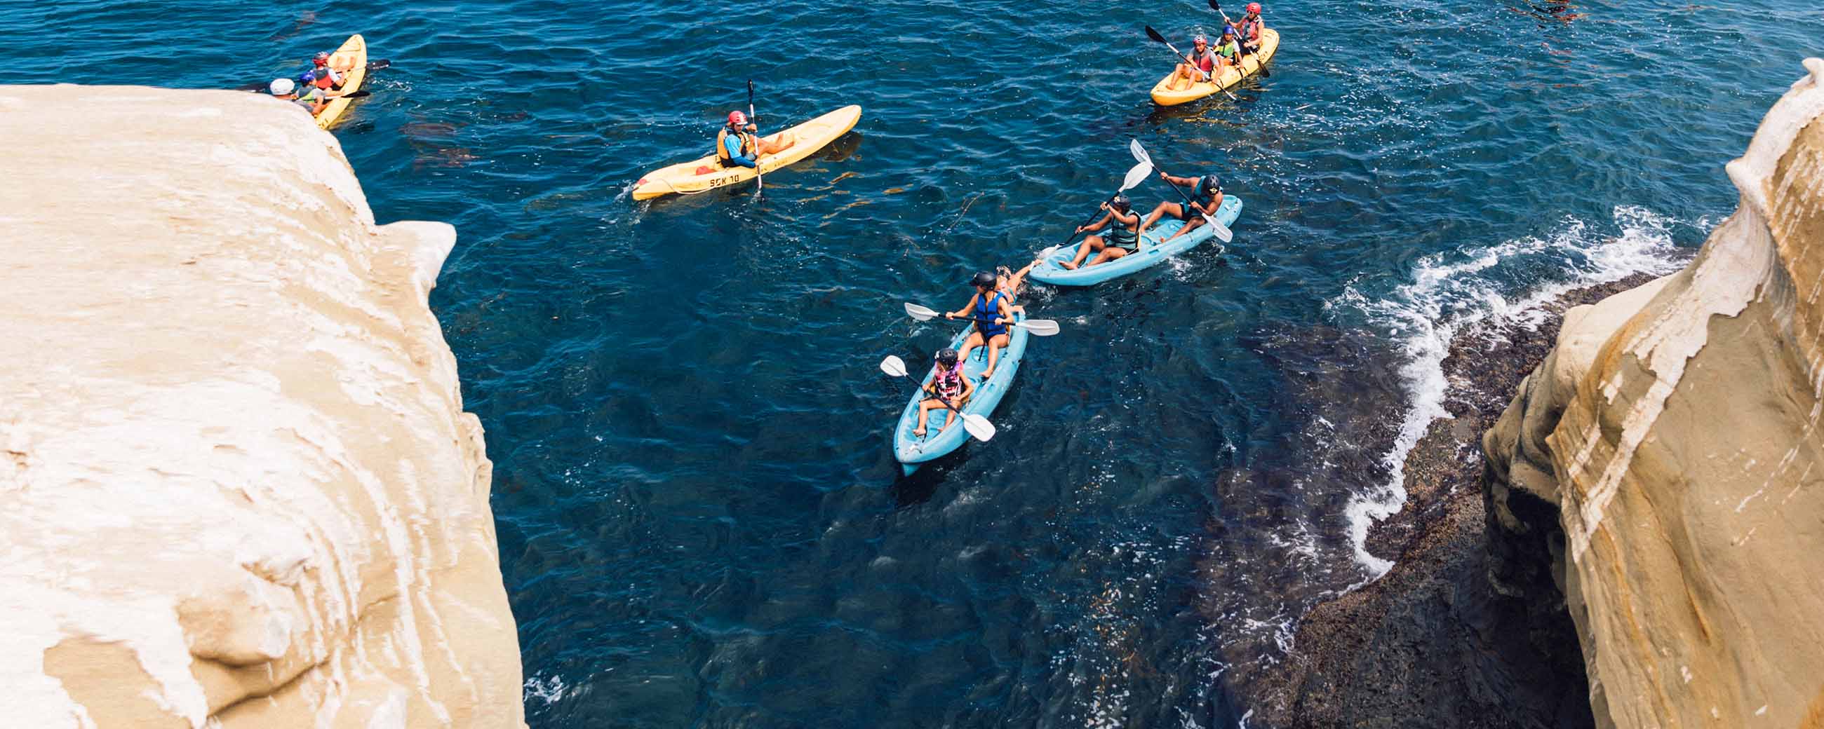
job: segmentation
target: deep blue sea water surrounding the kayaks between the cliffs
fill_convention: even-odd
[[[0,44],[11,82],[239,86],[352,31],[394,60],[337,137],[383,222],[461,233],[432,306],[534,727],[1235,725],[1377,569],[1352,529],[1450,334],[1696,246],[1824,55],[1808,5],[1280,4],[1270,77],[1169,111],[1140,27],[1211,27],[1191,2],[55,2]],[[631,202],[750,77],[768,126],[863,120],[761,197]],[[876,363],[948,332],[899,304],[1063,239],[1129,139],[1220,171],[1235,242],[1034,292],[1065,332],[1000,436],[899,479]]]

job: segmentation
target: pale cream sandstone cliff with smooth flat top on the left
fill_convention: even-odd
[[[259,95],[0,87],[0,724],[522,725],[454,230]]]

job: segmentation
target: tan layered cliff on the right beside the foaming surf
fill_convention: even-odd
[[[1806,69],[1729,162],[1740,206],[1698,257],[1572,310],[1483,437],[1492,518],[1561,530],[1541,541],[1600,725],[1824,725],[1824,60]]]

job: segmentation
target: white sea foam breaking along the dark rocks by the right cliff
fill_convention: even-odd
[[[1404,355],[1399,375],[1410,406],[1394,448],[1384,456],[1392,477],[1372,492],[1357,494],[1346,508],[1355,558],[1368,570],[1364,583],[1394,567],[1368,554],[1368,527],[1406,503],[1406,454],[1432,421],[1450,417],[1445,410],[1443,363],[1457,332],[1485,321],[1538,326],[1545,319],[1541,306],[1565,292],[1634,273],[1671,273],[1682,266],[1671,237],[1680,222],[1638,206],[1618,206],[1612,215],[1614,228],[1592,230],[1567,217],[1545,237],[1434,253],[1419,259],[1410,282],[1392,293],[1366,295],[1352,282],[1342,297],[1328,304],[1359,310],[1386,326]],[[1707,221],[1694,226],[1707,226]],[[1560,264],[1560,273],[1543,282],[1516,286],[1501,281],[1503,273],[1516,275],[1516,268],[1534,272],[1550,262]]]

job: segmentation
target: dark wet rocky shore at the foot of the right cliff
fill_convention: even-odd
[[[1558,341],[1565,310],[1654,277],[1567,292],[1538,326],[1476,324],[1443,368],[1452,419],[1406,456],[1406,507],[1373,525],[1368,549],[1394,560],[1381,580],[1317,605],[1295,649],[1246,689],[1249,725],[1591,727],[1576,629],[1549,569],[1556,508],[1508,503],[1547,529],[1488,523],[1481,436]],[[1536,508],[1529,508],[1536,507]]]

